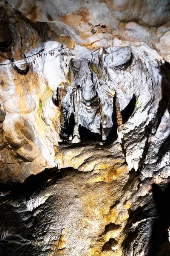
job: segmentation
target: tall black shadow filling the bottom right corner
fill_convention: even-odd
[[[170,256],[170,182],[162,191],[161,186],[153,183],[153,200],[156,205],[158,219],[154,222],[147,256]]]

